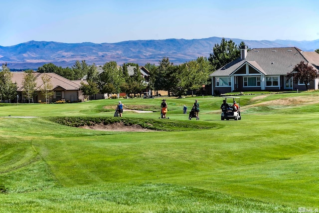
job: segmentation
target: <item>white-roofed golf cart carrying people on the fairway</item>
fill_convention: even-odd
[[[221,105],[221,120],[229,120],[229,119],[234,119],[234,120],[240,120],[240,98],[239,97],[232,97],[232,96],[227,96],[224,97],[223,104]],[[238,105],[236,107],[235,105]]]

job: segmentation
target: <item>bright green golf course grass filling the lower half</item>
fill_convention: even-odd
[[[0,212],[318,211],[319,92],[236,97],[228,121],[213,96],[1,103]]]

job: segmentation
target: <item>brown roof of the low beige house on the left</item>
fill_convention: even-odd
[[[17,91],[23,91],[23,79],[25,72],[12,72],[12,82],[16,83]],[[53,85],[53,89],[61,87],[64,90],[79,90],[81,81],[71,81],[55,73],[38,73],[33,72],[36,76],[36,90],[40,90],[43,86],[43,81],[41,79],[42,75],[48,75],[50,77],[50,82]]]

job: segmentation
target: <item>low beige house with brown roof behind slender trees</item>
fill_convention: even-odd
[[[12,82],[17,85],[18,102],[26,103],[28,98],[23,95],[23,79],[25,72],[12,72]],[[79,89],[81,81],[71,81],[55,73],[33,73],[36,76],[36,95],[33,97],[33,102],[46,102],[45,97],[41,94],[43,88],[43,81],[41,76],[47,75],[50,78],[50,83],[53,86],[53,96],[49,98],[49,102],[55,102],[59,100],[65,100],[70,102],[84,101],[84,96]]]

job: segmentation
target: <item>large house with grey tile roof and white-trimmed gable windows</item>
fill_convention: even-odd
[[[301,61],[319,71],[319,54],[303,52],[296,47],[255,48],[241,47],[241,55],[234,61],[210,74],[212,94],[233,91],[305,90],[303,83],[295,84],[287,73]],[[310,82],[309,89],[318,89],[319,79]]]

